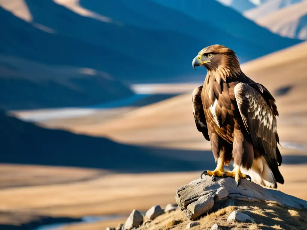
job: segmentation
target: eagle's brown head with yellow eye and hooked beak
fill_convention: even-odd
[[[203,48],[193,59],[192,66],[204,66],[210,72],[221,72],[230,77],[241,71],[239,59],[235,52],[223,45],[211,45]]]

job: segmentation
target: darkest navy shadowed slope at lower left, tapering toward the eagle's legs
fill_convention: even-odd
[[[139,148],[105,138],[41,128],[9,117],[4,111],[0,112],[0,145],[2,163],[91,167],[119,172],[191,171],[204,167],[204,162],[167,157],[164,151],[168,150]],[[212,158],[207,164],[214,162],[211,152],[202,154]]]

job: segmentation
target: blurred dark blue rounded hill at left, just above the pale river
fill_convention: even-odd
[[[0,107],[6,110],[84,106],[132,96],[104,72],[50,67],[0,55]]]

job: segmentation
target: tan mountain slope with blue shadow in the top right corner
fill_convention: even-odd
[[[307,1],[259,17],[255,22],[282,36],[307,40]]]

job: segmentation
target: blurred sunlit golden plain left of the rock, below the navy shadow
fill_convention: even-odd
[[[28,169],[23,170],[22,167],[16,167],[19,174],[29,173]],[[56,169],[60,174],[62,169],[60,167]],[[0,166],[2,177],[13,177],[16,175],[16,170],[10,169],[7,165]],[[48,171],[48,167],[45,170]],[[33,171],[35,171],[35,167],[33,167]],[[153,205],[165,206],[174,202],[176,190],[199,178],[200,175],[200,172],[113,173],[89,180],[76,181],[78,169],[74,168],[71,182],[61,183],[53,179],[52,168],[50,171],[49,177],[45,176],[45,185],[37,185],[35,178],[33,178],[33,186],[23,186],[22,181],[19,181],[20,186],[18,186],[15,181],[12,181],[14,187],[0,190],[0,210],[7,212],[27,211],[56,217],[127,214],[133,209],[147,210]],[[80,171],[80,174],[83,175],[84,169],[80,169]],[[68,171],[63,169],[63,172]],[[32,174],[38,173],[32,172]],[[49,183],[48,180],[51,182]]]

